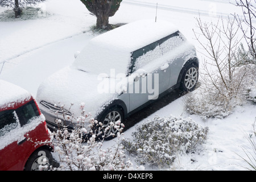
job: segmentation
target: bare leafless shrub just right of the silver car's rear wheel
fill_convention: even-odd
[[[239,27],[236,25],[236,20],[228,18],[227,22],[224,22],[221,19],[217,24],[213,24],[203,23],[199,18],[197,23],[200,33],[195,31],[194,33],[203,50],[206,51],[204,68],[205,75],[209,79],[207,84],[213,85],[217,94],[228,100],[236,97],[248,69],[247,65],[241,67],[242,60],[237,59],[241,57],[237,53],[242,38],[238,38]],[[202,35],[206,42],[200,38]]]

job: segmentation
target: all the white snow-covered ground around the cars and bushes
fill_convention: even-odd
[[[110,23],[155,19],[156,2],[157,18],[174,23],[196,48],[199,43],[194,39],[192,31],[197,28],[195,17],[200,14],[203,21],[216,22],[220,15],[225,19],[230,14],[241,14],[241,10],[229,0],[123,0],[117,13],[110,18]],[[96,36],[90,32],[96,18],[90,15],[80,1],[51,0],[38,6],[47,14],[43,11],[42,17],[38,19],[0,22],[0,79],[21,86],[34,96],[45,78],[70,65],[74,60],[74,52],[81,51],[84,44]],[[0,13],[5,10],[0,7]],[[201,56],[203,55],[199,53],[199,58]],[[143,119],[147,121],[156,114],[160,117],[172,114],[183,118],[191,117],[200,125],[209,127],[208,139],[201,146],[200,154],[178,156],[172,169],[245,169],[243,167],[247,166],[238,154],[246,158],[243,148],[250,148],[246,136],[253,133],[256,106],[238,106],[225,119],[203,121],[197,115],[186,113],[183,101],[184,98],[180,97]],[[131,137],[133,131],[135,127],[125,131],[125,137]],[[107,146],[114,143],[114,140],[105,142]]]

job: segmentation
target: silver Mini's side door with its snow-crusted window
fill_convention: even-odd
[[[131,75],[129,76],[130,111],[155,100],[168,87],[170,69],[160,70],[158,64],[162,51],[158,42],[133,52]]]

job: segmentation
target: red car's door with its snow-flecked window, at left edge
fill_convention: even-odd
[[[0,112],[0,170],[23,170],[31,144],[22,133],[15,110]]]

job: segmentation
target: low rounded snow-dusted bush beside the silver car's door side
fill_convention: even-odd
[[[207,138],[208,127],[197,125],[191,118],[154,118],[142,123],[132,134],[133,140],[123,140],[125,149],[139,164],[168,168],[177,152],[193,152]]]

